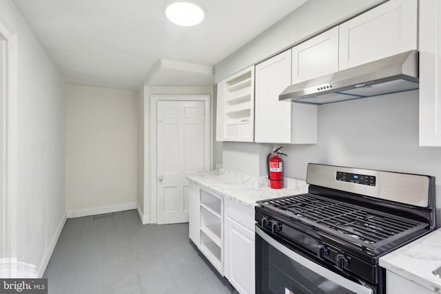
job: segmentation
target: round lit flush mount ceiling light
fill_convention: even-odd
[[[165,8],[165,16],[176,25],[191,27],[203,21],[204,11],[194,3],[175,2]]]

